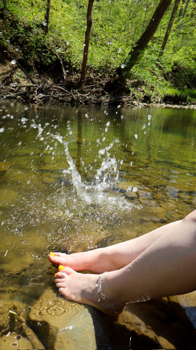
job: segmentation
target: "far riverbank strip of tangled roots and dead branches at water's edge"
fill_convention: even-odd
[[[80,85],[80,74],[63,75],[61,71],[31,75],[14,60],[5,61],[0,67],[0,99],[17,100],[30,103],[71,103],[123,106],[177,107],[196,109],[196,103],[190,104],[180,98],[161,98],[145,94],[142,83],[135,79],[127,86],[118,83],[98,72],[88,73],[84,86]]]

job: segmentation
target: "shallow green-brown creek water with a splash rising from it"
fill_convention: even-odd
[[[53,285],[50,251],[115,244],[194,210],[195,151],[195,110],[1,101],[0,308],[28,310]]]

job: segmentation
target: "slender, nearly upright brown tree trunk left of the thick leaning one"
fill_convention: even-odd
[[[82,85],[84,85],[85,77],[86,77],[86,65],[87,65],[87,61],[88,61],[89,41],[90,41],[90,33],[91,33],[91,27],[92,27],[93,2],[94,2],[94,0],[89,0],[87,15],[86,15],[86,32],[85,32],[85,41],[84,41],[85,46],[84,46],[82,70],[81,70],[81,77],[80,77],[80,83]]]

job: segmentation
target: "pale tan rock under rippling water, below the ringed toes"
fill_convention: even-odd
[[[29,323],[47,349],[97,349],[91,314],[82,304],[45,290],[29,314]]]

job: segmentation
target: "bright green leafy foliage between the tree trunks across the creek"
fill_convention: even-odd
[[[129,51],[148,25],[157,3],[149,0],[94,1],[88,67],[105,74],[113,72],[115,75],[115,69],[126,61]],[[174,0],[131,71],[130,80],[143,84],[143,92],[137,92],[136,87],[133,87],[138,99],[164,98],[170,94],[168,89],[171,88],[186,91],[186,96],[195,98],[190,96],[188,90],[196,88],[194,0],[190,0],[183,18],[181,14],[186,2],[183,8],[181,2],[161,57],[160,69],[156,66],[173,5]],[[32,67],[54,64],[58,52],[64,63],[69,62],[73,70],[80,71],[87,6],[88,0],[51,0],[49,31],[45,35],[43,21],[46,1],[0,0],[3,9],[0,44],[13,45],[13,50],[19,48],[23,58]],[[10,40],[10,44],[6,40]],[[56,51],[58,48],[60,50]]]

